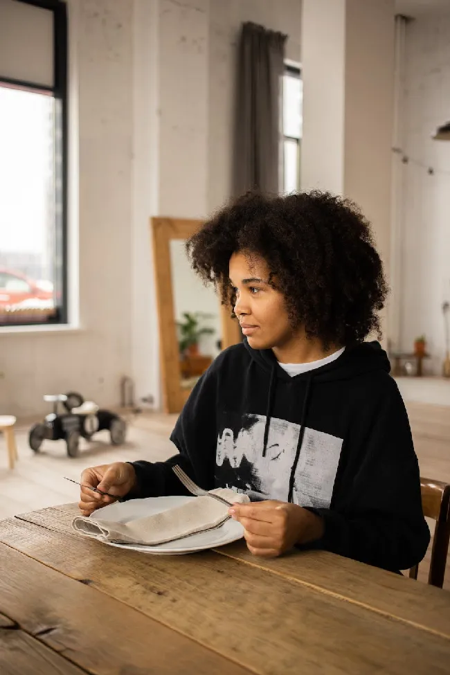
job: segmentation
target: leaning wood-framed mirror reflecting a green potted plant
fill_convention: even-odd
[[[163,407],[181,411],[221,349],[241,339],[239,324],[212,286],[191,269],[185,244],[201,221],[152,218]]]

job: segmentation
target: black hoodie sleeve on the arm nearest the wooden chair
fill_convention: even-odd
[[[325,521],[325,534],[316,548],[398,571],[422,560],[430,532],[422,511],[408,415],[397,385],[392,379],[390,383],[375,421],[359,422],[357,432],[366,426],[359,441],[362,460],[351,467],[350,482],[343,477],[345,494],[332,502],[331,509],[311,510]]]

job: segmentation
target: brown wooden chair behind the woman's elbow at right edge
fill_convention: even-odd
[[[450,539],[450,485],[420,478],[420,491],[424,515],[436,521],[428,583],[442,588]],[[409,570],[411,579],[417,579],[418,569],[416,565]]]

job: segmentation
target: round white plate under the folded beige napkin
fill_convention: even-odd
[[[126,523],[137,518],[173,509],[176,506],[186,504],[191,499],[197,499],[197,497],[148,497],[147,499],[130,499],[122,503],[116,502],[102,508],[101,519],[110,521],[111,523]],[[97,515],[100,516],[100,512],[97,512]],[[105,543],[109,544],[109,546],[128,548],[142,553],[152,553],[153,555],[183,555],[184,553],[193,553],[206,548],[224,546],[224,544],[231,543],[231,541],[242,539],[243,536],[244,528],[241,523],[229,519],[216,530],[190,534],[189,537],[185,537],[184,539],[160,543],[159,546],[111,543],[110,541],[105,541]]]

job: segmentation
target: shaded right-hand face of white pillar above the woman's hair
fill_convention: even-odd
[[[387,275],[394,28],[393,0],[347,0],[344,194],[361,206],[372,223]]]

